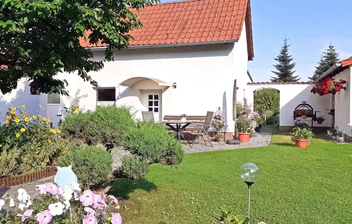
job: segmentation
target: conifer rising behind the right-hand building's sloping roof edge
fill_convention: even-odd
[[[339,61],[339,53],[336,52],[334,45],[330,43],[325,52],[322,53],[318,66],[315,66],[315,71],[312,77],[308,77],[310,81],[318,79],[325,71],[331,68]]]

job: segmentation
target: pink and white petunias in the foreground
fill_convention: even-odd
[[[78,183],[71,182],[71,186],[64,185],[62,188],[50,182],[36,186],[39,194],[33,201],[26,190],[18,190],[18,209],[15,209],[13,198],[10,200],[10,208],[14,211],[1,215],[1,224],[27,224],[27,223],[83,223],[121,224],[119,202],[113,195],[98,195],[90,190],[81,192]],[[1,206],[5,204],[0,199]]]

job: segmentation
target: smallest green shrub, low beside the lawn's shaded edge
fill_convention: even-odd
[[[138,156],[124,156],[121,158],[120,173],[129,179],[144,178],[149,171],[149,163]]]

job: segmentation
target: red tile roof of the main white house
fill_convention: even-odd
[[[143,28],[129,34],[131,46],[236,40],[246,22],[249,58],[253,57],[249,0],[188,0],[145,6],[137,17]],[[246,21],[245,21],[246,19]],[[80,38],[84,47],[92,45]]]

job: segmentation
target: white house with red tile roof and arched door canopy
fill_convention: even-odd
[[[0,112],[25,104],[30,112],[58,121],[56,115],[65,115],[63,108],[71,105],[87,111],[97,105],[127,104],[153,111],[161,121],[165,114],[205,115],[220,106],[226,114],[227,138],[232,138],[234,80],[239,100],[246,83],[253,81],[247,73],[247,61],[253,58],[250,1],[167,2],[146,6],[137,15],[143,29],[131,32],[130,49],[115,51],[114,62],[89,74],[99,89],[63,73],[59,78],[68,81],[70,97],[29,95],[23,79],[18,89],[0,96]],[[81,39],[81,45],[93,50],[93,60],[103,60],[103,44],[93,46]]]

